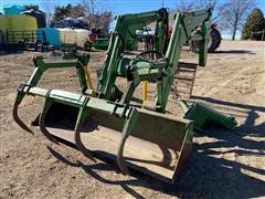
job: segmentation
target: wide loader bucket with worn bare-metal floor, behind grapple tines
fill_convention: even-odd
[[[88,114],[82,126],[76,124],[80,107],[59,102],[46,109],[45,118],[39,116],[36,122],[45,126],[42,132],[77,145],[93,160],[92,154],[97,154],[117,160],[124,172],[130,167],[167,182],[176,180],[191,153],[193,122],[136,107],[131,121],[99,106],[85,108]]]

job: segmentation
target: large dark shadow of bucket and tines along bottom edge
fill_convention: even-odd
[[[49,147],[49,150],[62,163],[84,169],[86,174],[103,184],[121,186],[124,190],[136,198],[145,197],[134,190],[134,187],[145,187],[183,198],[253,198],[265,195],[265,181],[250,177],[241,171],[244,169],[265,175],[265,170],[223,158],[211,157],[214,150],[206,145],[194,144],[186,172],[173,185],[158,181],[134,170],[131,175],[136,179],[110,180],[98,175],[97,170],[118,172],[114,165],[107,163],[94,165],[84,165],[81,161],[72,163],[54,149]]]

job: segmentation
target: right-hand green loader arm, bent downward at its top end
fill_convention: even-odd
[[[171,39],[168,45],[165,60],[168,65],[165,67],[161,80],[157,82],[157,103],[158,112],[165,112],[173,76],[177,72],[181,49],[191,39],[192,31],[202,24],[202,38],[199,52],[199,65],[204,66],[208,54],[208,38],[211,24],[212,10],[203,9],[193,12],[177,13]]]

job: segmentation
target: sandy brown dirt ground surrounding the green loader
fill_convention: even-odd
[[[115,165],[93,163],[77,150],[34,136],[12,119],[17,86],[33,72],[33,53],[0,55],[0,198],[256,198],[265,197],[265,43],[223,41],[197,73],[191,102],[234,116],[235,130],[194,134],[188,167],[174,185]],[[183,51],[182,60],[195,61]],[[104,53],[93,52],[93,73]],[[95,75],[93,75],[95,83]],[[47,72],[40,87],[77,91],[74,70]],[[172,101],[172,100],[170,100]],[[42,106],[28,97],[20,115],[30,124]],[[170,103],[171,104],[171,103]],[[169,104],[169,106],[170,106]]]

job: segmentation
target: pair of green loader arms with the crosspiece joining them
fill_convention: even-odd
[[[178,67],[181,48],[191,39],[192,31],[200,24],[202,24],[202,35],[199,65],[205,65],[206,38],[209,36],[211,15],[211,9],[177,13],[169,44],[167,43],[168,13],[165,9],[117,17],[107,59],[102,71],[99,71],[97,92],[100,94],[100,97],[115,102],[119,101],[120,104],[129,104],[134,100],[134,91],[141,82],[155,82],[157,83],[156,109],[163,113]],[[135,36],[136,30],[152,21],[157,21],[156,49],[152,53],[158,54],[160,59],[149,61],[123,57],[124,50],[128,41]],[[127,88],[121,93],[121,97],[119,96],[120,91],[117,91],[115,85],[117,76],[126,77],[128,81]]]

